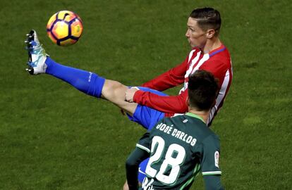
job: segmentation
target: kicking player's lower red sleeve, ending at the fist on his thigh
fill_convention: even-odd
[[[150,91],[138,90],[134,94],[133,100],[143,106],[148,106],[163,113],[185,113],[188,111],[186,99],[188,90],[183,91],[178,96],[159,96]]]

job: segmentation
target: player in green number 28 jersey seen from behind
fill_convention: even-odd
[[[219,138],[207,127],[218,84],[205,70],[188,77],[188,113],[164,118],[146,132],[126,161],[130,190],[138,189],[138,167],[150,156],[142,189],[190,189],[201,171],[205,189],[223,189]]]

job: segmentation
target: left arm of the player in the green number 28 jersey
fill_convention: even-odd
[[[129,190],[138,190],[138,170],[142,160],[149,158],[149,132],[145,133],[137,144],[135,150],[126,160],[126,177]]]

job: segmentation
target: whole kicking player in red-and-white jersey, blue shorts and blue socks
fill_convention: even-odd
[[[32,30],[28,34],[28,72],[32,75],[45,73],[68,82],[85,94],[111,101],[126,110],[128,118],[146,129],[164,117],[188,110],[188,75],[195,70],[208,70],[219,79],[219,95],[212,108],[207,124],[211,125],[214,115],[224,103],[232,80],[232,67],[229,51],[219,39],[221,17],[214,8],[197,8],[188,18],[185,34],[192,51],[185,61],[168,72],[156,77],[142,87],[130,88],[120,82],[56,63],[45,53]],[[161,91],[184,84],[178,96],[167,96]],[[137,89],[139,89],[137,91]],[[126,94],[126,95],[125,95]],[[125,101],[125,98],[127,101]],[[141,178],[142,179],[142,178]]]

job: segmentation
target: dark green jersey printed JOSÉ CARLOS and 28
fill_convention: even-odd
[[[150,153],[142,189],[189,189],[200,171],[221,175],[219,138],[193,113],[164,118],[136,146]]]

